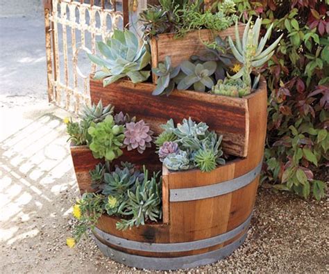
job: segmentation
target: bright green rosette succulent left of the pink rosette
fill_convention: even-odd
[[[98,124],[92,122],[88,133],[92,138],[89,147],[96,159],[105,157],[112,161],[122,155],[120,147],[123,145],[124,127],[115,124],[112,115]]]

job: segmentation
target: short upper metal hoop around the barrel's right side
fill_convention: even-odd
[[[248,173],[240,177],[228,180],[226,182],[211,184],[209,186],[198,186],[194,188],[171,189],[169,201],[185,202],[201,200],[237,191],[239,188],[243,188],[244,186],[251,184],[251,182],[253,182],[253,180],[260,174],[261,169],[262,161],[260,161],[260,163],[255,169],[249,171]]]

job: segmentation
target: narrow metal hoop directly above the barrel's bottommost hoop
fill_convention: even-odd
[[[131,250],[151,251],[151,252],[184,252],[190,250],[199,250],[202,248],[209,248],[210,246],[219,245],[230,239],[233,239],[239,233],[243,232],[250,223],[251,215],[238,227],[230,230],[229,232],[198,241],[189,241],[185,243],[145,243],[140,241],[130,241],[119,238],[112,234],[101,231],[97,227],[94,228],[96,238],[103,239],[104,241],[117,245],[121,248],[128,248]]]

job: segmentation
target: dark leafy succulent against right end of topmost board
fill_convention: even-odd
[[[232,61],[234,56],[229,53],[230,47],[226,41],[222,40],[219,36],[214,38],[214,42],[210,45],[207,45],[207,51],[201,56],[193,55],[191,56],[192,61],[215,61],[217,63],[214,76],[216,81],[219,79],[224,79],[226,70],[228,67],[233,65]]]

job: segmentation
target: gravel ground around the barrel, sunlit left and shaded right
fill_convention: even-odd
[[[37,110],[37,111],[35,111]],[[103,257],[90,237],[70,249],[71,204],[78,195],[58,109],[0,108],[0,266],[2,273],[137,272]],[[12,130],[10,130],[12,129]],[[248,238],[233,255],[192,273],[325,273],[328,200],[260,188]]]

